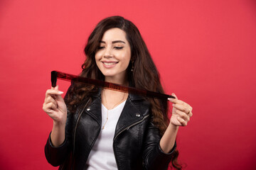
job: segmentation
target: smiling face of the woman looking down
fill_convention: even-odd
[[[95,60],[106,81],[124,81],[131,60],[131,48],[124,30],[111,28],[104,33]]]

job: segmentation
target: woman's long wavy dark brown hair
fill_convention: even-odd
[[[102,40],[103,34],[111,28],[124,30],[127,41],[131,47],[131,61],[127,68],[128,81],[130,83],[129,86],[164,94],[164,89],[161,86],[159,79],[159,72],[156,69],[142,35],[131,21],[128,21],[121,16],[111,16],[103,19],[92,31],[85,47],[85,55],[87,56],[87,59],[82,64],[82,72],[80,73],[80,76],[104,80],[104,75],[96,65],[95,53],[100,45],[100,40]],[[132,67],[133,72],[131,71]],[[73,83],[66,98],[68,109],[70,111],[75,111],[76,106],[78,106],[81,101],[87,101],[90,96],[97,93],[97,91],[98,88],[96,86]],[[155,98],[146,98],[146,100],[151,103],[151,113],[154,125],[159,128],[160,134],[164,135],[164,132],[169,125],[168,102],[160,101]],[[175,169],[181,169],[181,165],[177,162],[177,157],[178,150],[174,152],[174,157],[171,163]]]

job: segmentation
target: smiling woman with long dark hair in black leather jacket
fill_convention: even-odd
[[[121,16],[97,24],[85,47],[81,77],[164,93],[151,55],[136,26]],[[176,169],[178,126],[192,108],[168,101],[72,82],[65,99],[46,91],[43,111],[53,119],[46,159],[60,169]]]

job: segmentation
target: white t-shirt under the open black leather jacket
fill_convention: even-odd
[[[100,131],[100,135],[89,154],[87,170],[117,169],[117,162],[114,158],[113,151],[113,139],[117,121],[122,113],[125,102],[120,103],[117,107],[108,111],[108,120],[107,108],[102,104],[102,127],[105,125],[106,120],[107,123],[104,130]]]

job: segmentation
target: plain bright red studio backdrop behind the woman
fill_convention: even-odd
[[[114,15],[139,28],[166,93],[193,106],[177,138],[185,169],[254,169],[255,0],[1,0],[0,169],[57,169],[43,152],[50,71],[79,74],[92,29]]]

